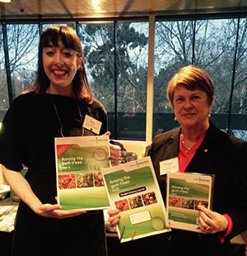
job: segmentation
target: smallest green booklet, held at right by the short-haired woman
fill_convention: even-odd
[[[198,225],[198,206],[212,209],[214,175],[167,173],[166,210],[168,226],[203,233]]]

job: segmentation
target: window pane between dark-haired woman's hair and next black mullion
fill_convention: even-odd
[[[80,24],[86,74],[93,97],[108,113],[114,112],[114,27],[108,24]]]

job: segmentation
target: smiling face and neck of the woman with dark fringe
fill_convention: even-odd
[[[72,80],[81,67],[82,57],[58,41],[58,46],[50,44],[43,48],[42,60],[50,81],[49,93],[73,96]]]

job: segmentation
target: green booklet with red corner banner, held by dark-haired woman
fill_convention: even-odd
[[[55,138],[58,203],[63,210],[110,206],[101,169],[110,165],[109,136]]]

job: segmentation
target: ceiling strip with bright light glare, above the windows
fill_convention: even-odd
[[[147,17],[246,10],[246,0],[12,0],[0,3],[0,19]]]

